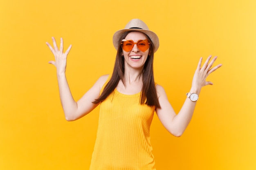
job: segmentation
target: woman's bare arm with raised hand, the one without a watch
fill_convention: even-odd
[[[85,93],[78,102],[76,102],[71,94],[65,75],[67,55],[72,46],[70,45],[67,51],[63,53],[63,39],[61,38],[60,49],[57,47],[55,38],[52,38],[52,41],[53,47],[46,42],[55,57],[55,61],[50,61],[49,64],[56,66],[59,93],[65,118],[67,121],[74,121],[87,115],[97,106],[97,104],[93,104],[92,102],[99,97],[101,87],[106,82],[108,75],[100,77],[92,88],[90,88],[90,90]]]

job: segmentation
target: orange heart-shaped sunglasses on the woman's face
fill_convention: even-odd
[[[137,44],[137,47],[140,51],[145,52],[150,46],[149,40],[139,40],[138,42],[133,42],[132,40],[123,40],[121,42],[121,47],[124,51],[129,52],[132,50],[134,44]]]

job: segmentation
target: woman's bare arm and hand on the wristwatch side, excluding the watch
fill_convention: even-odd
[[[201,88],[206,85],[212,85],[212,82],[206,82],[206,78],[213,71],[217,70],[222,66],[219,64],[213,68],[213,63],[216,61],[217,57],[214,57],[211,60],[211,56],[209,56],[201,68],[202,58],[198,63],[198,67],[195,71],[190,93],[197,93],[199,95]],[[164,88],[160,85],[156,86],[158,100],[161,108],[156,108],[157,116],[159,120],[162,122],[164,127],[170,132],[172,135],[180,137],[185,131],[186,127],[189,125],[189,122],[192,118],[195,104],[196,102],[192,102],[188,97],[186,98],[180,112],[176,115],[173,110],[171,104],[168,101]]]

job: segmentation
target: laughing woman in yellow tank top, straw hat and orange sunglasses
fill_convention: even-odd
[[[203,86],[212,84],[206,78],[222,64],[213,68],[217,57],[202,64],[200,58],[192,86],[179,113],[168,102],[164,88],[155,84],[154,53],[159,47],[157,35],[139,19],[131,20],[125,29],[113,36],[117,56],[113,73],[101,76],[79,101],[75,101],[65,76],[67,55],[63,39],[50,61],[57,68],[61,104],[67,121],[79,119],[100,105],[99,127],[90,170],[155,170],[150,145],[150,124],[156,112],[164,127],[174,136],[181,136],[188,126],[198,95]],[[210,61],[211,60],[211,61]]]

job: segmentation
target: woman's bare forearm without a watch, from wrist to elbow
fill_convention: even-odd
[[[75,115],[77,110],[77,103],[72,96],[65,73],[57,74],[57,77],[60,99],[65,118],[67,120],[72,120],[72,116]]]

